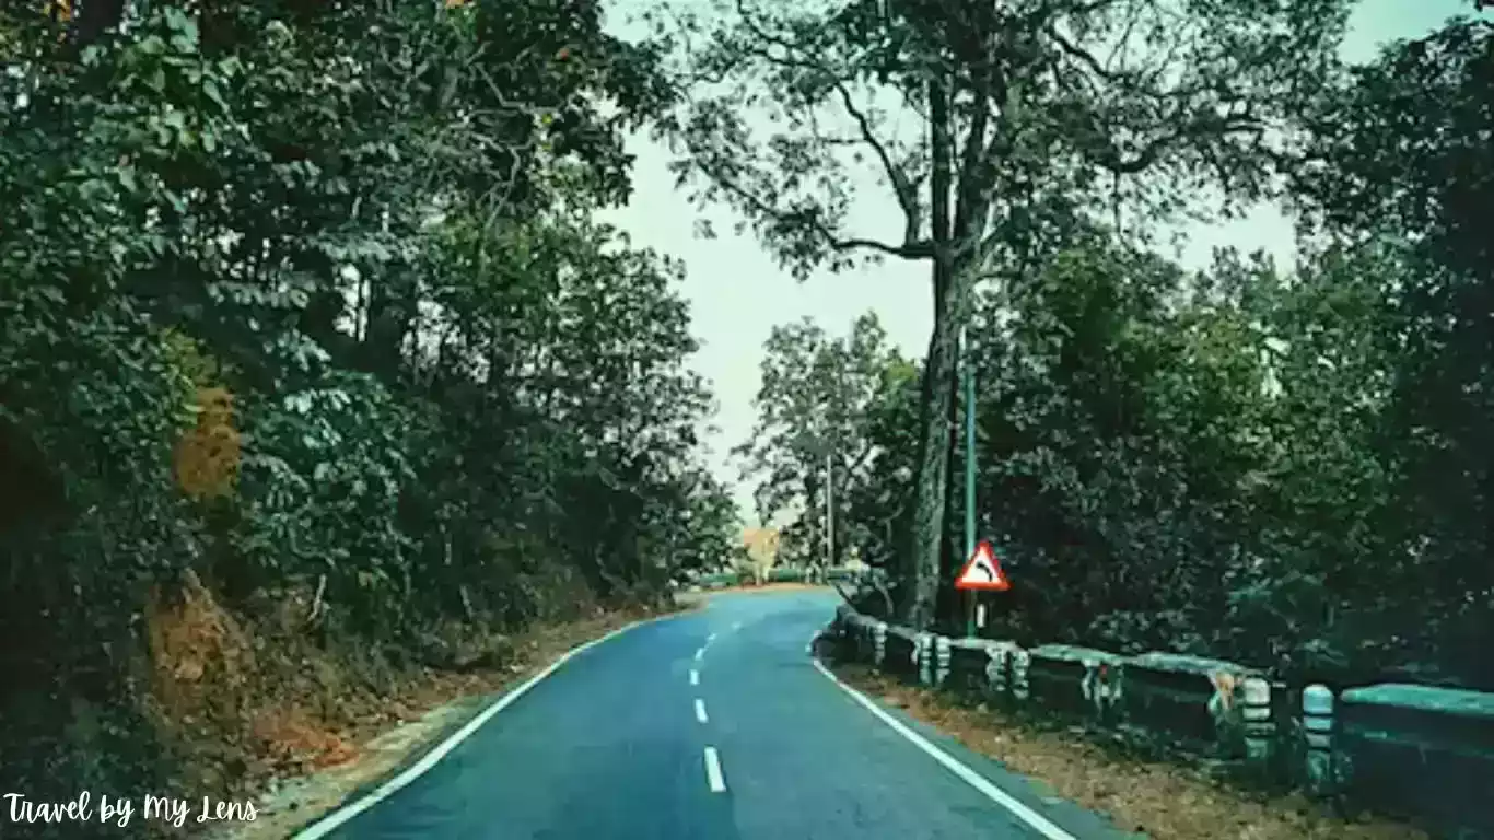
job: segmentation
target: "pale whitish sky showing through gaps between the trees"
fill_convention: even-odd
[[[622,21],[626,9],[619,13],[617,3],[613,7],[613,18]],[[1467,7],[1464,0],[1361,0],[1349,21],[1342,54],[1348,61],[1366,61],[1380,45],[1425,34]],[[622,27],[619,30],[624,34]],[[844,335],[858,315],[872,309],[904,356],[922,357],[932,329],[928,269],[917,262],[889,260],[881,266],[822,274],[798,282],[774,265],[751,233],[735,236],[731,217],[725,214],[713,214],[713,220],[728,220],[716,224],[716,239],[696,238],[695,221],[701,214],[675,190],[666,170],[669,151],[644,133],[629,138],[627,151],[636,157],[632,200],[626,208],[604,212],[602,218],[626,230],[635,247],[684,262],[687,275],[681,291],[690,303],[693,332],[701,342],[692,366],[711,383],[719,402],[713,419],[719,432],[707,439],[711,465],[734,489],[744,522],[751,523],[751,486],[740,480],[728,450],[751,433],[757,366],[769,330],[810,317],[829,333]],[[898,209],[890,199],[872,200],[877,193],[874,184],[867,184],[868,200],[853,208],[853,229],[896,239],[901,230]],[[1188,268],[1204,268],[1219,247],[1264,248],[1282,266],[1291,265],[1295,254],[1291,223],[1267,205],[1227,224],[1186,227],[1185,236],[1186,247],[1177,257]]]

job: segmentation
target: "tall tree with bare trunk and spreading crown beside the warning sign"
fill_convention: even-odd
[[[698,200],[741,214],[799,278],[865,259],[931,265],[901,604],[913,625],[934,619],[941,577],[955,338],[973,284],[1089,203],[1167,212],[1201,187],[1264,190],[1348,6],[719,0],[656,18],[687,88],[660,129]],[[892,239],[850,221],[867,175],[901,214]]]

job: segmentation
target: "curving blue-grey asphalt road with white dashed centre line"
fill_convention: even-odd
[[[1100,818],[1044,798],[901,713],[872,711],[816,668],[807,644],[835,604],[834,592],[817,590],[720,595],[702,611],[610,638],[535,683],[408,785],[353,803],[312,834],[1116,836]]]

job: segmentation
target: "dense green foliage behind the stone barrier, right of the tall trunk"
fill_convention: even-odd
[[[1494,689],[1491,82],[1490,27],[1454,21],[1303,103],[1291,271],[1188,272],[1068,214],[989,278],[977,504],[1014,581],[989,634]],[[887,454],[838,511],[889,566],[908,401],[868,408]]]

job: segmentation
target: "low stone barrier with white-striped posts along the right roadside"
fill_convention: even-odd
[[[1221,659],[943,638],[846,604],[825,640],[908,682],[1144,732],[1252,779],[1494,839],[1494,694],[1415,685],[1336,694]]]

